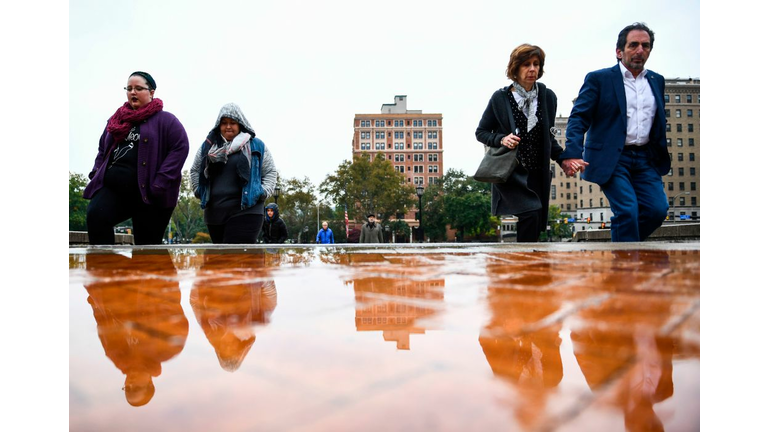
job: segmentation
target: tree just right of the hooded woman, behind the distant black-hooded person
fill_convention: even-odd
[[[281,192],[277,199],[277,205],[280,209],[280,218],[283,219],[288,228],[288,238],[298,240],[299,234],[301,234],[302,243],[306,243],[307,238],[314,240],[317,234],[315,231],[317,224],[315,186],[308,177],[278,179],[278,186],[280,186]],[[268,199],[268,202],[273,202],[273,200]],[[308,235],[304,234],[304,227],[308,228]],[[335,231],[334,234],[336,234]]]

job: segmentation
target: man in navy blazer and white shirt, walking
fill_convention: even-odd
[[[664,77],[645,69],[653,42],[643,23],[619,33],[618,64],[587,74],[558,158],[566,175],[582,171],[583,179],[600,185],[613,212],[614,242],[646,239],[669,209],[661,180],[671,166]]]

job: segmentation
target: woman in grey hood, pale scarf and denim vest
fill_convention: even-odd
[[[224,105],[190,169],[213,243],[256,243],[277,170],[239,106]]]

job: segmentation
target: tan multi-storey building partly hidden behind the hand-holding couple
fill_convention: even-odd
[[[664,102],[667,116],[667,150],[672,160],[672,169],[662,177],[664,190],[669,200],[669,220],[680,216],[698,221],[701,217],[701,128],[700,128],[700,80],[672,78],[665,80]],[[555,136],[558,144],[565,148],[565,131],[568,117],[555,119]],[[597,229],[602,222],[610,226],[611,212],[608,199],[600,186],[581,179],[581,176],[566,177],[555,162],[550,163],[553,173],[550,190],[550,205],[560,208],[579,222],[577,230],[590,227]],[[677,196],[674,206],[672,198]],[[587,223],[587,219],[590,223]]]

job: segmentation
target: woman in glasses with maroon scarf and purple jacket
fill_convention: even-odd
[[[114,244],[114,226],[131,219],[134,244],[162,243],[189,154],[187,132],[146,72],[128,77],[128,101],[115,111],[99,140],[83,196],[90,244]]]

